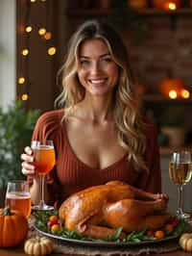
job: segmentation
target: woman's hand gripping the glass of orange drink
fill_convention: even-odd
[[[23,162],[21,163],[22,166],[22,173],[24,175],[30,175],[35,178],[37,176],[35,166],[33,165],[34,162],[34,155],[33,150],[30,146],[26,146],[24,149],[25,153],[21,154],[21,160]]]

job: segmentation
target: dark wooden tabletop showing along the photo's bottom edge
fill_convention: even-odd
[[[0,249],[0,256],[26,256],[27,254],[24,253],[23,251],[23,247],[19,247],[19,248],[9,248],[9,249]],[[72,255],[72,254],[59,254],[59,253],[52,253],[50,254],[52,256],[78,256],[76,255]],[[153,253],[150,254],[150,256],[191,256],[191,253],[187,253],[181,250],[178,251],[173,251],[173,252],[169,252],[169,253]],[[81,254],[81,256],[84,256]]]

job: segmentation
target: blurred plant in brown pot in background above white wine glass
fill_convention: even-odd
[[[185,139],[185,111],[183,106],[172,105],[164,109],[160,116],[162,134],[169,139],[169,145],[180,147]]]

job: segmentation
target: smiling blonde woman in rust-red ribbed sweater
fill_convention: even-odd
[[[41,115],[33,140],[54,141],[57,165],[47,177],[46,198],[59,205],[72,192],[124,181],[160,192],[156,130],[138,112],[128,53],[108,24],[90,20],[71,38],[63,65],[61,110]],[[22,172],[39,200],[33,152],[21,155]]]

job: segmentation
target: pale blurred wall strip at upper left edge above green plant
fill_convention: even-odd
[[[0,1],[0,106],[16,97],[16,2]]]

